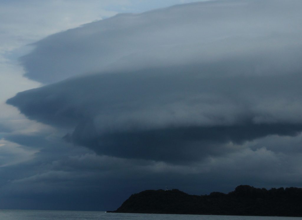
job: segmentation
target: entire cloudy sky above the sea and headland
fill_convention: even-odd
[[[0,209],[302,187],[300,0],[0,0]]]

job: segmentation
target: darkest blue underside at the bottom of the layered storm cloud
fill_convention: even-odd
[[[85,126],[84,126],[85,127]],[[93,127],[93,125],[90,125]],[[213,127],[162,128],[147,131],[127,131],[83,137],[78,126],[65,138],[86,146],[98,154],[114,157],[159,160],[171,163],[194,162],[208,156],[230,153],[223,144],[243,144],[268,135],[295,136],[302,124],[252,124]]]

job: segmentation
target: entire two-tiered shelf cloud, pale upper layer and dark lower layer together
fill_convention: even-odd
[[[27,77],[56,83],[7,103],[69,129],[66,141],[122,158],[192,162],[234,150],[225,144],[296,136],[301,7],[201,2],[54,34],[21,61]]]

